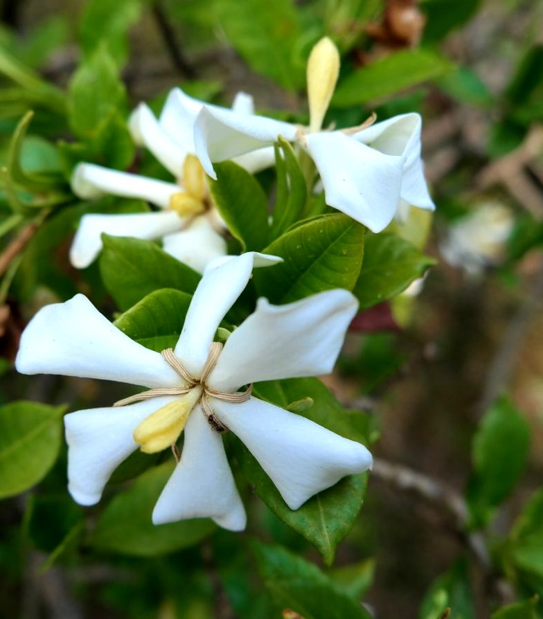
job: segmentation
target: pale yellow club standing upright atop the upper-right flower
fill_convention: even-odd
[[[310,132],[319,131],[339,75],[339,51],[332,39],[323,37],[308,60]]]

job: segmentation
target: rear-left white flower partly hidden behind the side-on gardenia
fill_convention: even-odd
[[[173,89],[158,120],[143,103],[130,118],[134,141],[147,147],[171,172],[175,182],[110,170],[93,163],[76,166],[71,181],[75,195],[84,199],[107,194],[140,198],[163,212],[84,215],[70,250],[74,267],[88,267],[96,258],[102,249],[102,233],[162,239],[165,251],[199,272],[204,271],[209,260],[226,254],[222,237],[224,222],[211,203],[205,174],[194,156],[193,124],[202,105],[203,102],[188,97],[180,89]],[[254,111],[253,100],[245,93],[238,93],[231,110],[213,109],[240,116]],[[267,148],[240,158],[238,163],[254,172],[273,161],[273,149]]]

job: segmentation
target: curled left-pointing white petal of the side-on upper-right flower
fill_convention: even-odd
[[[194,144],[204,170],[216,179],[212,161],[233,159],[272,145],[279,135],[293,141],[296,131],[296,125],[281,120],[266,116],[244,116],[229,109],[204,106],[195,121]]]

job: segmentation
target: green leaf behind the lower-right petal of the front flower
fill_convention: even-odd
[[[345,411],[328,389],[313,378],[290,379],[258,384],[258,397],[286,409],[290,402],[311,397],[310,409],[299,414],[331,431],[359,442],[366,442],[368,418],[364,413]],[[337,545],[344,539],[362,507],[366,474],[348,476],[334,487],[313,496],[298,510],[290,510],[256,459],[240,441],[235,440],[238,460],[244,476],[260,498],[288,526],[308,539],[326,565],[334,561]]]

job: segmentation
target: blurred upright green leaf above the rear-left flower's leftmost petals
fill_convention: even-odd
[[[68,89],[70,127],[82,139],[96,138],[109,117],[125,105],[116,64],[104,47],[80,65]]]

